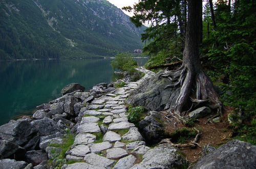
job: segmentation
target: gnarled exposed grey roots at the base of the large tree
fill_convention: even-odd
[[[160,77],[166,77],[171,82],[164,89],[180,88],[178,98],[172,98],[168,102],[169,105],[165,107],[169,111],[183,116],[186,111],[190,111],[195,105],[207,102],[211,109],[217,109],[217,116],[222,115],[222,103],[219,101],[219,96],[215,92],[208,75],[200,68],[195,69],[182,65],[177,70],[165,71],[159,74],[158,78]],[[184,110],[184,105],[188,102],[191,106],[188,110]]]

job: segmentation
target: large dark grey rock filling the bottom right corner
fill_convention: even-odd
[[[237,139],[231,140],[199,158],[189,168],[256,168],[256,146]]]

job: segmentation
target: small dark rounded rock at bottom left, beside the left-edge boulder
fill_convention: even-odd
[[[26,161],[33,165],[38,165],[42,161],[47,160],[47,157],[47,153],[42,150],[32,150],[25,154]]]

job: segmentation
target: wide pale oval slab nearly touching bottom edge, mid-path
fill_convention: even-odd
[[[87,154],[86,156],[84,156],[84,161],[86,161],[89,164],[102,167],[107,167],[116,162],[115,160],[110,160],[106,157],[102,157],[94,153]]]

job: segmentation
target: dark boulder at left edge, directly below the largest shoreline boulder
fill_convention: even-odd
[[[26,150],[8,140],[0,142],[0,159],[11,158],[15,160],[24,160]]]

